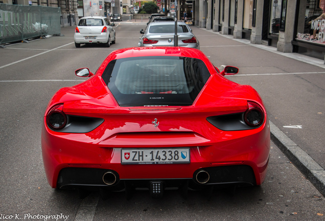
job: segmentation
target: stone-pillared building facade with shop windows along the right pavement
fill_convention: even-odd
[[[194,5],[200,28],[325,60],[325,0],[196,0]]]

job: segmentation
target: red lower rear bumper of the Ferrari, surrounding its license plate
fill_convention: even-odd
[[[125,165],[121,164],[120,147],[82,142],[82,138],[89,139],[86,135],[74,134],[71,135],[74,140],[67,139],[68,136],[49,131],[43,125],[43,163],[48,182],[53,188],[75,185],[112,188],[103,182],[103,174],[107,171],[115,173],[117,183],[114,185],[121,185],[124,181],[179,179],[188,179],[195,183],[196,173],[202,168],[210,175],[210,181],[203,185],[227,183],[261,185],[265,180],[269,159],[268,124],[251,135],[237,138],[235,135],[242,136],[239,131],[228,131],[224,139],[234,138],[204,145],[192,144],[189,164]],[[76,139],[75,136],[81,137]],[[156,142],[159,143],[157,140]],[[75,173],[77,177],[72,179],[71,174]]]

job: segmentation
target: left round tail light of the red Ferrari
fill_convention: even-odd
[[[57,104],[49,111],[47,115],[47,124],[52,130],[63,129],[66,125],[67,118],[63,112],[63,104]]]

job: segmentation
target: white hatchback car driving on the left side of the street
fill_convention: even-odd
[[[82,43],[104,43],[109,47],[115,43],[115,30],[112,28],[107,17],[89,16],[82,17],[75,30],[75,46],[80,47]]]

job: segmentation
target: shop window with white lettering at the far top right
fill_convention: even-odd
[[[325,0],[308,1],[304,16],[296,39],[325,46]]]

